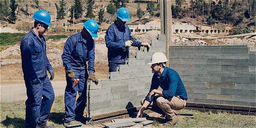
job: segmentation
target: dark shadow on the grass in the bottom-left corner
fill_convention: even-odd
[[[12,127],[12,128],[24,128],[25,127],[25,120],[21,118],[10,118],[6,116],[6,119],[1,122],[5,127]]]

